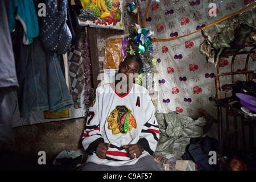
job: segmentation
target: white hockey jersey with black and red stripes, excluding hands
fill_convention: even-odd
[[[121,96],[111,84],[96,89],[82,145],[89,155],[86,163],[108,166],[135,164],[139,158],[153,155],[159,139],[159,128],[155,118],[155,107],[146,88],[133,84],[128,93]],[[110,143],[105,159],[96,155],[98,143]],[[125,144],[141,144],[144,148],[139,158],[127,156]]]

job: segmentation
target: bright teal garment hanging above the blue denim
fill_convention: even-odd
[[[16,27],[15,19],[22,23],[24,29],[23,44],[29,45],[39,35],[38,17],[33,0],[10,0],[9,31]]]

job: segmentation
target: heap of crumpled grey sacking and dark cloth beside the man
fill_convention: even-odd
[[[209,151],[217,151],[217,139],[208,135],[204,136],[216,122],[206,112],[193,119],[176,112],[156,113],[160,138],[155,150],[155,161],[160,169],[165,169],[169,163],[169,169],[177,169],[177,162],[186,162],[187,170],[193,169],[189,162],[195,163],[197,170],[215,170],[217,165],[210,165]],[[159,156],[168,158],[158,160]],[[162,161],[162,162],[161,162]],[[209,166],[210,165],[210,166]]]

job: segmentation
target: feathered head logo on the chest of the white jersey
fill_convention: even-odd
[[[131,110],[126,106],[116,106],[108,117],[108,129],[112,130],[112,134],[127,134],[131,129],[136,129],[137,123]]]

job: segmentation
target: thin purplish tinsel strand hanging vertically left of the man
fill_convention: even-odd
[[[85,116],[88,113],[89,106],[90,106],[90,75],[91,75],[91,63],[90,63],[90,45],[89,45],[89,35],[87,28],[85,27],[85,33],[82,34],[82,40],[84,42],[81,43],[82,48],[82,59],[83,61],[83,68],[84,68],[84,78],[85,78],[85,86],[84,86],[84,104],[86,107]]]

